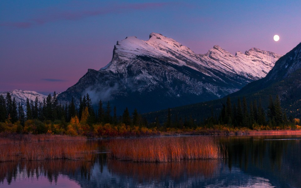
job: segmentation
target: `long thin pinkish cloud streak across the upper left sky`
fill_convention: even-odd
[[[93,10],[78,10],[78,11],[62,11],[53,10],[45,11],[43,15],[38,15],[35,18],[26,20],[24,22],[3,22],[0,26],[11,28],[29,28],[35,25],[42,25],[49,22],[56,22],[61,20],[81,20],[88,17],[106,15],[110,13],[124,13],[135,10],[145,10],[161,8],[171,3],[127,3],[114,4],[105,7],[94,8]]]

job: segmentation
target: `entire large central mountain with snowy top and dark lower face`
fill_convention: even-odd
[[[89,93],[92,102],[110,101],[119,113],[125,107],[148,112],[208,101],[266,76],[280,57],[257,48],[234,56],[219,46],[195,54],[161,34],[151,33],[147,41],[127,37],[114,46],[108,65],[89,69],[58,99],[78,101]]]

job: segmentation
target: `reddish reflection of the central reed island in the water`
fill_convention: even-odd
[[[210,178],[219,172],[219,160],[182,160],[172,163],[133,163],[108,160],[110,172],[130,176],[139,181],[160,180],[169,177],[179,180],[183,177]]]

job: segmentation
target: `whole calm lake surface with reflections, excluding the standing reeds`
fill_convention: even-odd
[[[218,137],[226,160],[132,163],[107,159],[0,163],[0,187],[301,187],[301,136]],[[105,152],[108,140],[98,142]]]

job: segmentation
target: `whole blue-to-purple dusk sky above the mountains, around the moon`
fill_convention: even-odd
[[[0,91],[65,91],[108,64],[127,36],[161,33],[204,54],[301,41],[301,1],[0,1]],[[275,42],[273,36],[280,40]]]

